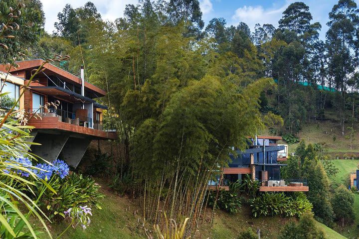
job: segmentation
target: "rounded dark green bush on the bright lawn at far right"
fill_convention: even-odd
[[[336,189],[332,198],[332,205],[336,220],[341,223],[342,227],[354,222],[354,195],[344,185]]]

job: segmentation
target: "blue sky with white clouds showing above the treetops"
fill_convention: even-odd
[[[41,0],[43,3],[48,32],[54,30],[53,24],[57,20],[57,13],[67,2],[73,7],[84,5],[88,0]],[[285,8],[294,0],[199,0],[203,12],[203,20],[208,23],[213,17],[223,17],[228,25],[236,25],[240,21],[248,24],[251,30],[256,23],[271,23],[278,26],[278,20]],[[126,4],[136,4],[138,0],[92,0],[104,19],[115,20],[123,16]],[[325,38],[328,29],[328,13],[338,0],[304,0],[310,7],[313,22],[322,24],[320,38]],[[359,0],[356,0],[357,4]]]

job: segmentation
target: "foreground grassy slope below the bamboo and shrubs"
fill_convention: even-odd
[[[120,197],[103,186],[101,191],[106,195],[102,200],[102,210],[93,209],[91,224],[85,231],[81,227],[70,228],[63,239],[146,239],[141,209],[137,202],[127,197]],[[251,227],[254,231],[261,229],[263,239],[276,239],[283,226],[290,220],[281,217],[253,218],[248,205],[237,215],[230,215],[220,210],[215,212],[213,227],[209,222],[211,209],[206,209],[206,216],[200,224],[195,239],[236,239],[238,234]],[[67,221],[50,225],[53,238],[56,238],[67,226]],[[318,226],[327,234],[328,239],[345,239],[323,224]],[[151,225],[146,227],[151,234]],[[39,235],[40,239],[47,239],[47,234]]]

